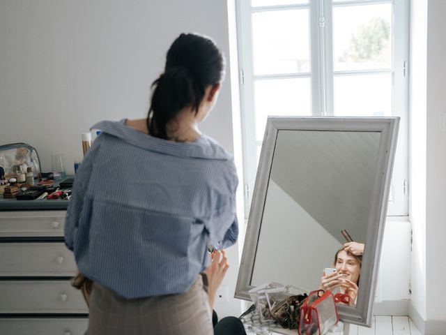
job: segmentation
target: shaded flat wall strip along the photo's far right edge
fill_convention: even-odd
[[[446,1],[429,0],[426,94],[426,317],[446,329]]]

